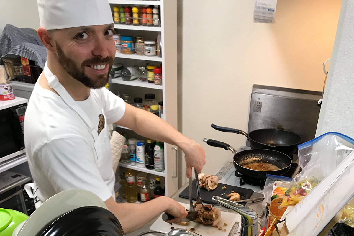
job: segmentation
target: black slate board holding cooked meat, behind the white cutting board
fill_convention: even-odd
[[[222,189],[223,186],[226,186],[226,189]],[[194,179],[192,182],[192,199],[193,200],[197,199],[197,189],[196,188],[197,187],[196,187],[195,179]],[[201,200],[203,201],[203,203],[215,204],[216,202],[211,200],[211,198],[213,196],[219,196],[222,198],[226,198],[226,195],[230,194],[231,191],[234,191],[234,192],[237,192],[238,194],[240,194],[241,200],[249,199],[253,194],[253,190],[251,190],[251,189],[244,189],[244,188],[240,188],[237,186],[219,183],[217,188],[213,189],[211,191],[208,191],[205,188],[200,188],[200,197],[201,197]],[[223,193],[225,193],[225,194],[222,195]],[[187,188],[185,188],[181,192],[181,194],[179,194],[179,197],[189,199],[189,186],[187,186]],[[246,203],[243,203],[243,205],[245,205],[245,204]]]

